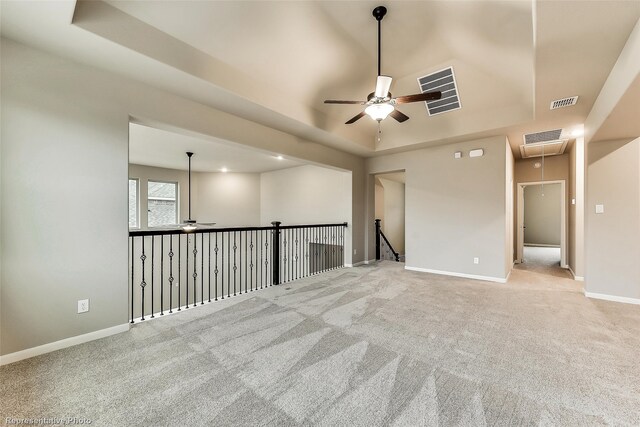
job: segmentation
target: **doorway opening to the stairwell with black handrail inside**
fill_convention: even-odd
[[[384,234],[382,259],[404,262],[406,173],[400,170],[376,174],[375,185],[375,217],[380,220],[380,231]]]

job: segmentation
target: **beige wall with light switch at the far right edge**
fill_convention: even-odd
[[[640,138],[591,143],[587,156],[585,290],[640,299]]]

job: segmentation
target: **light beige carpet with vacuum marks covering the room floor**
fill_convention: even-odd
[[[640,307],[514,270],[342,269],[0,368],[0,415],[92,425],[640,425]]]

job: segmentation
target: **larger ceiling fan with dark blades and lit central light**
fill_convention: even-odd
[[[373,120],[376,120],[378,123],[386,119],[389,115],[391,115],[391,117],[396,119],[398,122],[402,123],[408,120],[409,116],[396,110],[396,105],[408,104],[411,102],[432,101],[435,99],[440,99],[440,97],[442,96],[442,93],[439,91],[398,96],[396,98],[393,98],[391,96],[389,88],[391,87],[392,79],[389,76],[383,76],[380,72],[380,23],[382,21],[382,18],[384,18],[386,14],[387,8],[384,6],[378,6],[373,9],[373,16],[374,18],[376,18],[376,21],[378,21],[378,79],[376,81],[375,92],[370,93],[369,96],[367,96],[366,101],[343,101],[338,99],[327,99],[326,101],[324,101],[325,104],[366,105],[364,111],[345,123],[347,125],[360,120],[365,116],[365,114],[369,115],[369,117],[371,117]]]

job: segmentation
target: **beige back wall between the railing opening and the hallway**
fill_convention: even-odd
[[[370,174],[406,170],[407,268],[505,279],[510,268],[505,262],[505,143],[505,137],[492,137],[368,159]],[[476,148],[483,148],[484,156],[469,158]],[[464,157],[454,159],[456,151]],[[370,240],[374,187],[370,175]],[[368,249],[374,251],[375,245]],[[374,258],[372,253],[367,258]]]

